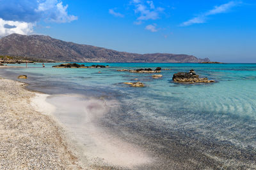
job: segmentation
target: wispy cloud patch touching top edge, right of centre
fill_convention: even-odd
[[[135,6],[135,13],[140,16],[137,18],[136,24],[142,23],[143,20],[156,20],[159,19],[159,14],[164,11],[164,8],[157,7],[154,5],[153,1],[147,1],[143,3],[140,0],[133,0],[132,3]]]

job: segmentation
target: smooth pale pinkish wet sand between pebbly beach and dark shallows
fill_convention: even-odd
[[[88,164],[116,169],[140,169],[154,162],[154,158],[138,145],[111,135],[99,124],[99,120],[109,110],[118,108],[118,101],[77,94],[52,95],[46,101],[55,106],[52,115],[58,124],[66,128],[68,136],[81,146],[82,155]]]

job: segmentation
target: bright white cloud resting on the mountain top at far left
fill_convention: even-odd
[[[12,25],[12,28],[8,28],[4,25]],[[14,27],[15,26],[15,27]],[[3,20],[0,18],[0,37],[8,36],[9,34],[30,34],[33,32],[33,24],[27,22]]]

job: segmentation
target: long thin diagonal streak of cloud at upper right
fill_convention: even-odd
[[[212,10],[202,13],[201,15],[198,15],[197,17],[191,18],[190,20],[180,24],[180,26],[189,26],[189,25],[193,25],[193,24],[205,23],[208,16],[216,15],[219,13],[226,13],[231,8],[233,8],[234,6],[237,6],[238,4],[241,4],[241,2],[240,1],[230,1],[229,3],[221,4],[220,6],[214,6],[214,8]]]

